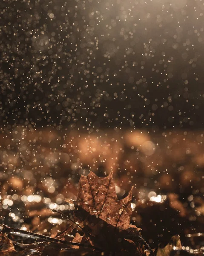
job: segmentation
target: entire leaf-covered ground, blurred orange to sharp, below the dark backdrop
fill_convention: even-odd
[[[0,255],[202,255],[201,142],[199,131],[5,131]]]

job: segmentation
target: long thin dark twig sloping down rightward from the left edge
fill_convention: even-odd
[[[49,240],[49,241],[53,241],[53,242],[57,242],[57,243],[71,244],[71,245],[77,245],[77,246],[82,246],[82,247],[89,247],[89,248],[98,250],[100,252],[103,251],[103,250],[99,249],[98,247],[95,247],[95,246],[92,246],[92,245],[89,245],[89,244],[81,244],[81,243],[70,242],[70,241],[61,240],[61,239],[57,239],[57,238],[52,238],[52,237],[49,237],[49,236],[36,234],[36,233],[30,232],[30,231],[20,230],[19,228],[8,227],[4,224],[0,224],[0,226],[3,227],[1,229],[1,232],[3,232],[3,233],[22,233],[22,234],[26,234],[28,236],[35,236],[35,237],[38,237],[38,238],[41,238],[41,239],[45,239],[45,240]]]

